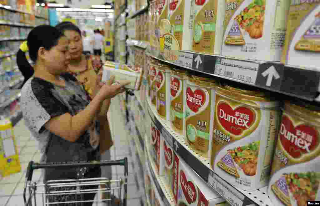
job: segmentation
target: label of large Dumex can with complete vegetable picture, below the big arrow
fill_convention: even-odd
[[[238,101],[220,93],[215,100],[212,168],[241,189],[265,186],[279,111],[268,108],[268,102]]]

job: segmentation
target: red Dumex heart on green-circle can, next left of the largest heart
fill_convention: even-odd
[[[192,92],[191,88],[187,88],[186,93],[187,105],[195,113],[197,113],[204,105],[205,102],[205,93],[201,89],[196,89],[195,92]]]

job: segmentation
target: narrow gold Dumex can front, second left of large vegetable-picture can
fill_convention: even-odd
[[[171,75],[170,79],[170,120],[174,129],[176,129],[180,134],[183,130],[183,92],[185,87],[185,82],[181,78],[175,75]]]

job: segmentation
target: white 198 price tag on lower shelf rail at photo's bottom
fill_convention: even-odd
[[[244,195],[239,193],[238,191],[235,191],[232,186],[229,185],[228,182],[225,180],[222,180],[219,176],[214,175],[213,178],[216,181],[216,191],[225,198],[232,206],[242,206],[244,199]],[[236,192],[236,193],[235,193]],[[239,193],[239,194],[238,194]],[[241,195],[241,199],[238,197],[238,195]]]

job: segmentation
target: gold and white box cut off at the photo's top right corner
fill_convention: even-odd
[[[291,1],[282,63],[319,68],[320,1]]]

